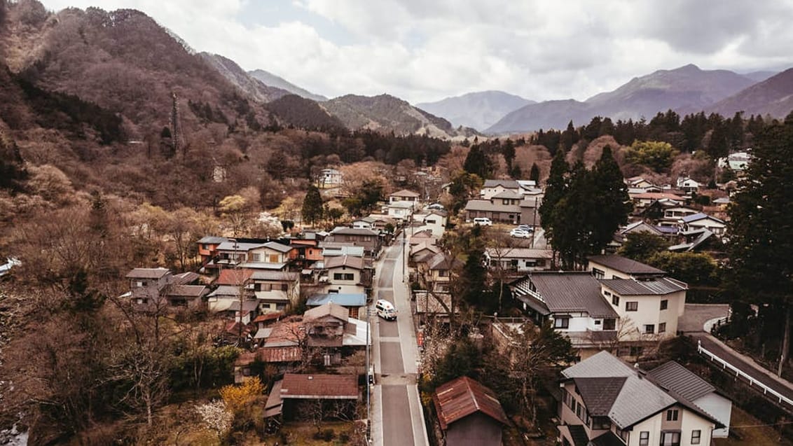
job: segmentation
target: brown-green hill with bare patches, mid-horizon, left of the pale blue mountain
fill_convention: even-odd
[[[439,138],[462,134],[452,128],[449,121],[388,94],[373,97],[348,94],[324,102],[322,106],[351,130],[369,129],[396,135],[426,134]]]

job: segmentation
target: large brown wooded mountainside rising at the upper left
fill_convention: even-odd
[[[266,111],[187,45],[136,10],[39,10],[10,4],[3,53],[33,86],[67,93],[124,116],[134,139],[169,125],[172,93],[184,130],[236,120],[253,127]],[[31,9],[37,11],[31,13]],[[28,51],[19,51],[28,48]]]

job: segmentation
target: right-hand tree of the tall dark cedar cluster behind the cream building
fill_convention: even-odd
[[[593,253],[600,253],[614,238],[619,226],[628,223],[628,214],[633,210],[623,173],[609,146],[603,147],[603,154],[592,167],[592,185],[596,190],[592,249]]]

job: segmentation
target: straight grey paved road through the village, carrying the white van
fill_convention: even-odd
[[[395,243],[377,266],[377,299],[397,308],[397,320],[374,318],[374,387],[372,440],[376,446],[427,444],[416,388],[416,331],[413,329],[403,246]]]

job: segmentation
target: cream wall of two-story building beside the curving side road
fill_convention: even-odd
[[[603,286],[604,292],[611,292],[612,296],[604,296],[611,307],[617,311],[623,322],[632,324],[626,334],[626,340],[647,339],[648,337],[674,337],[677,334],[677,319],[682,314],[685,306],[685,290],[668,295],[619,295],[610,288]],[[613,303],[613,296],[619,297],[619,305]],[[665,310],[661,310],[661,300],[667,301]],[[626,311],[627,302],[637,302],[637,311]],[[664,333],[658,333],[658,326],[666,324]],[[645,326],[653,325],[653,334],[646,334]]]

